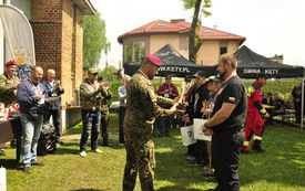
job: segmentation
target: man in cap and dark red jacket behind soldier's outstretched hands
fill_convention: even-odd
[[[179,96],[176,86],[174,84],[172,84],[172,76],[167,75],[165,76],[165,83],[162,84],[157,92],[157,95],[163,96],[165,98],[171,98],[174,99],[176,96]],[[170,129],[171,126],[174,123],[174,116],[170,116],[170,117],[162,117],[160,119],[160,135],[159,137],[163,137],[164,136],[164,128],[165,128],[165,136],[170,137]]]

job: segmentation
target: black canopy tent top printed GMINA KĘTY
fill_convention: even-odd
[[[304,77],[304,67],[273,62],[245,45],[234,54],[238,61],[237,74],[242,78],[255,78],[261,73],[274,78]]]

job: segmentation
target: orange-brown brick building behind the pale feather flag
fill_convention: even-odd
[[[42,66],[44,73],[54,68],[65,89],[61,98],[61,124],[65,129],[73,124],[68,106],[77,102],[75,89],[83,79],[83,15],[94,15],[95,10],[90,0],[0,0],[0,4],[7,2],[23,11],[31,23],[35,64]],[[4,55],[3,47],[0,41],[0,57]],[[3,72],[3,60],[0,65]]]

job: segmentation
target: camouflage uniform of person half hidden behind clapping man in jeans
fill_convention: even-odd
[[[108,126],[109,126],[109,107],[108,107],[108,100],[111,99],[112,94],[110,91],[102,91],[101,96],[101,129],[102,129],[102,137],[103,137],[103,145],[108,146]]]

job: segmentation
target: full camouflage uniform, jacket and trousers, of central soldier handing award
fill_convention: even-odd
[[[126,165],[123,190],[132,191],[136,173],[143,191],[153,190],[154,178],[154,144],[152,141],[155,117],[170,116],[172,99],[155,94],[150,79],[140,72],[135,73],[128,86],[126,114],[124,118],[124,135],[126,137]]]

